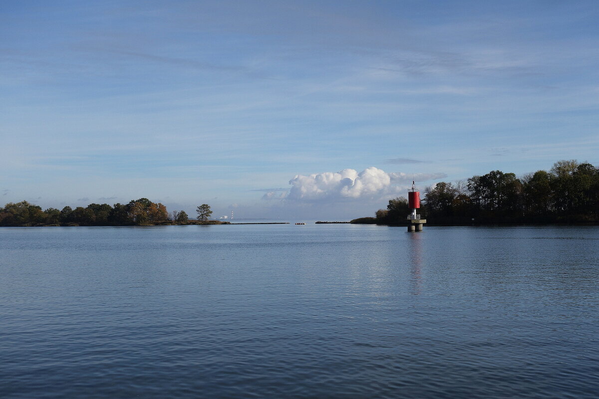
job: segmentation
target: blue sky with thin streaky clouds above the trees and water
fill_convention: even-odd
[[[599,166],[597,20],[597,1],[4,0],[0,202],[349,220],[412,180]]]

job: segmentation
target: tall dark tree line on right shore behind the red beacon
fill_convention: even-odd
[[[354,223],[403,223],[409,213],[405,197],[389,200],[373,218]],[[463,181],[438,182],[424,190],[419,210],[428,223],[599,223],[599,169],[576,160],[561,160],[549,170],[518,178],[492,170]]]

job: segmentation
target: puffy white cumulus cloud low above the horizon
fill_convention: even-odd
[[[362,172],[343,169],[339,172],[314,173],[309,176],[296,175],[289,181],[289,193],[277,194],[270,191],[264,200],[284,199],[293,202],[326,202],[329,200],[379,200],[382,197],[400,194],[404,188],[397,184],[412,180],[440,179],[445,173],[387,173],[377,167],[367,167]]]

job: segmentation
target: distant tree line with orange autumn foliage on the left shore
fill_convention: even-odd
[[[212,214],[210,206],[198,206],[198,223],[208,221]],[[0,226],[156,226],[161,224],[197,224],[189,220],[185,211],[168,212],[162,203],[154,203],[147,198],[131,200],[127,204],[91,203],[85,208],[62,210],[40,206],[27,201],[7,203],[0,208]]]

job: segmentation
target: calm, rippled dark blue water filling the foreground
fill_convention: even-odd
[[[0,229],[0,397],[596,398],[599,228]]]

